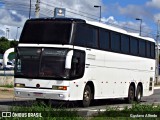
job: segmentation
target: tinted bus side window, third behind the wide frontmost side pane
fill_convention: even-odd
[[[121,51],[122,53],[129,53],[129,37],[121,35]]]

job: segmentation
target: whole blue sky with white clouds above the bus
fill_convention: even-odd
[[[31,18],[35,18],[35,3],[31,0]],[[98,21],[156,38],[160,24],[160,0],[40,0],[40,17],[53,17],[54,8],[66,9],[66,17]],[[19,39],[25,21],[29,18],[30,0],[0,0],[0,37]]]

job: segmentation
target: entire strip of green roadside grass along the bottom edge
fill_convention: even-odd
[[[160,120],[160,106],[141,104],[133,104],[132,107],[125,107],[123,110],[120,110],[119,107],[107,107],[105,112],[99,112],[90,117],[82,117],[76,110],[62,107],[54,108],[54,106],[46,105],[43,102],[30,102],[26,106],[13,106],[10,111],[14,112],[12,120],[24,118],[25,120]],[[19,115],[23,117],[15,117],[18,115],[17,113],[21,113]],[[38,117],[33,117],[36,114],[31,117],[30,113],[38,113]],[[5,120],[10,119],[5,118]]]

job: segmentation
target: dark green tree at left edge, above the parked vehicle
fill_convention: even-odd
[[[5,37],[0,38],[0,53],[3,54],[7,49],[10,48],[10,42]]]

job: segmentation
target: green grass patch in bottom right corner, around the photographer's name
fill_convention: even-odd
[[[133,104],[123,110],[107,108],[91,120],[160,120],[160,106]]]

